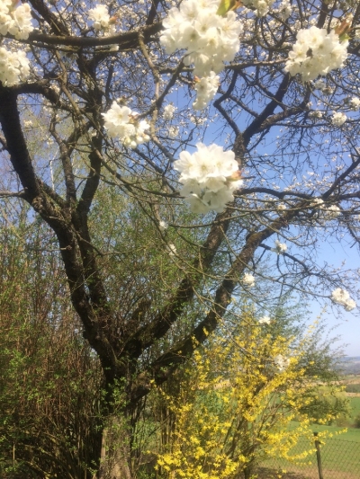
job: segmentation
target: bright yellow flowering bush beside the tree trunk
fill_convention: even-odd
[[[238,331],[220,329],[206,350],[195,351],[175,395],[157,390],[173,419],[157,446],[165,477],[231,479],[262,459],[306,460],[313,450],[311,418],[302,411],[314,385],[299,367],[306,337],[294,349],[292,338],[259,332],[251,311],[242,316]],[[281,372],[280,354],[290,359]],[[309,438],[309,449],[296,456],[300,437]]]

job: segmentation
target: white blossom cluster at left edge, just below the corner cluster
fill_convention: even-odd
[[[24,51],[12,52],[0,47],[0,82],[4,86],[19,84],[29,74],[29,60]]]

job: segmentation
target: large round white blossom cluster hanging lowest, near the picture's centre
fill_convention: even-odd
[[[184,185],[180,192],[194,213],[207,213],[211,209],[220,213],[234,200],[233,191],[243,183],[239,179],[238,162],[232,151],[225,152],[221,146],[202,143],[196,146],[197,152],[191,155],[183,151],[174,163]]]

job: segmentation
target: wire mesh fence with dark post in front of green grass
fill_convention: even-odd
[[[309,442],[299,441],[293,452],[301,455]],[[292,463],[268,459],[257,468],[258,479],[360,479],[360,442],[314,438],[314,448],[306,459]]]

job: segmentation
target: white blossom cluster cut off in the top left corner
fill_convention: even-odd
[[[16,7],[13,0],[0,0],[0,34],[14,35],[16,40],[27,40],[33,31],[29,4]]]

